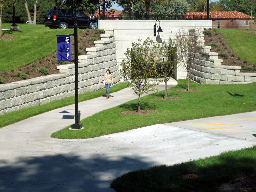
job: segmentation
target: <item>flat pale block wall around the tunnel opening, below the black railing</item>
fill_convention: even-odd
[[[128,48],[132,47],[133,42],[138,39],[146,40],[147,37],[156,42],[156,37],[153,36],[153,25],[156,20],[99,20],[98,28],[106,29],[108,27],[115,30],[116,42],[116,58],[117,64],[120,64],[123,59],[126,59],[124,53]],[[156,23],[159,25],[159,22]],[[163,32],[159,32],[162,40],[174,39],[179,29],[188,28],[212,28],[212,20],[160,20],[160,25]],[[175,79],[185,79],[187,71],[181,65],[178,65],[175,71]]]

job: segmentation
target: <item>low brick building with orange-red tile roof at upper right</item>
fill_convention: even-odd
[[[187,12],[187,15],[201,16],[207,15],[206,11]],[[238,11],[209,11],[209,18],[216,19],[212,21],[212,27],[220,28],[250,28],[251,16]],[[256,28],[256,23],[252,17],[252,28]]]

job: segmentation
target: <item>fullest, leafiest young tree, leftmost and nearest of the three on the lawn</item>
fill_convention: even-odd
[[[120,75],[138,95],[138,113],[140,113],[140,96],[148,91],[157,91],[155,88],[161,80],[156,71],[156,45],[153,40],[145,40],[141,44],[132,43],[132,48],[125,52],[126,60],[122,61]]]

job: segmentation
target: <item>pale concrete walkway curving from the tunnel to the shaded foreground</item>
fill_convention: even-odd
[[[176,84],[170,80],[168,87]],[[164,84],[159,90],[164,90]],[[137,98],[129,88],[111,95],[108,100],[100,97],[79,103],[81,119]],[[182,123],[177,125],[180,127],[157,124],[91,139],[51,138],[53,132],[74,123],[74,108],[59,108],[0,129],[0,191],[114,191],[109,183],[132,170],[256,144],[218,132],[180,128]]]

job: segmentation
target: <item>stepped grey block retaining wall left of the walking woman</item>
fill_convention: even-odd
[[[120,83],[113,30],[106,30],[87,55],[78,56],[79,94],[104,88],[102,78],[110,69],[115,84]],[[59,74],[0,85],[0,115],[43,105],[75,95],[74,63],[57,66]]]

